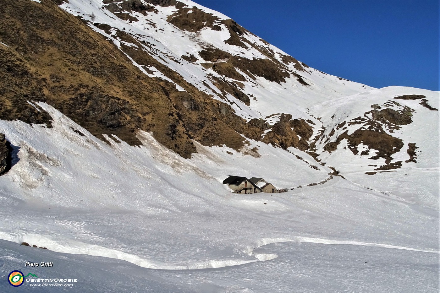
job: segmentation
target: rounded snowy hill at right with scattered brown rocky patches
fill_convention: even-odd
[[[439,92],[388,87],[312,107],[325,129],[318,159],[347,179],[438,207],[439,101]]]

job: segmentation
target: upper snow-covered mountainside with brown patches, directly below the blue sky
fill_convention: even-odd
[[[103,33],[126,54],[130,55],[129,49],[133,48],[148,52],[188,83],[213,95],[214,99],[230,103],[245,119],[264,119],[280,111],[295,114],[298,106],[371,89],[304,66],[225,15],[192,1],[175,1],[165,7],[153,3],[156,2],[73,0],[61,7],[87,20],[93,12],[89,26]],[[102,9],[103,5],[114,14]],[[203,19],[207,20],[200,23]],[[118,32],[132,37],[135,44],[121,42]],[[236,43],[231,44],[228,41],[231,39]],[[187,61],[190,56],[195,61]],[[243,62],[249,64],[244,66]],[[243,105],[246,101],[231,95],[230,89],[219,88],[218,78],[227,84],[232,82],[229,87],[244,93],[250,105]]]

